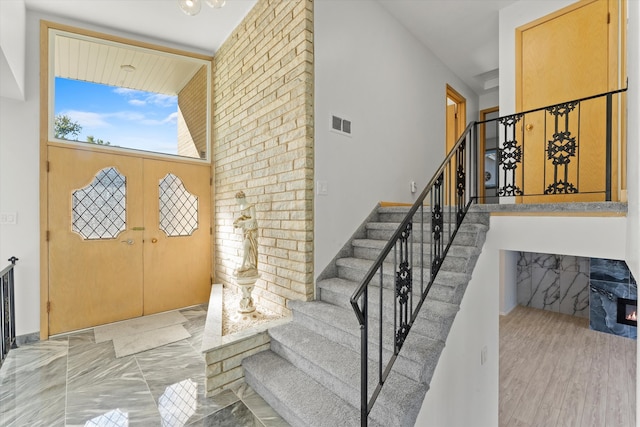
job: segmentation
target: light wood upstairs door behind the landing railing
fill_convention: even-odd
[[[612,43],[617,46],[617,20],[609,13],[607,0],[585,0],[517,29],[518,111],[617,88],[617,48],[611,52]],[[583,102],[573,110],[567,107],[556,114],[528,114],[518,124],[524,141],[524,172],[518,184],[525,194],[540,196],[523,197],[521,202],[604,200],[605,99]],[[575,144],[568,142],[570,138]],[[613,145],[616,188],[617,144]]]

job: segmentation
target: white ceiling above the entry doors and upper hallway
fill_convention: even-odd
[[[27,9],[213,55],[256,0],[187,16],[177,0],[24,0]],[[324,1],[324,0],[319,0]],[[341,0],[355,1],[355,0]],[[367,0],[374,1],[374,0]],[[517,0],[378,0],[478,95],[497,88],[498,11]]]

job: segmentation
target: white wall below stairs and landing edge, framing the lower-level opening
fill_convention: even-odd
[[[624,217],[492,216],[416,425],[498,425],[498,319],[515,306],[517,251],[622,259],[625,232]]]

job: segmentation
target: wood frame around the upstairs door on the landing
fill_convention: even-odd
[[[533,27],[555,19],[564,14],[573,12],[591,3],[602,0],[579,0],[569,6],[542,16],[534,21],[517,27],[515,32],[516,44],[516,112],[523,111],[523,85],[522,85],[522,34]],[[626,58],[626,2],[607,0],[609,11],[609,46],[608,46],[608,79],[607,91],[613,91],[627,86],[627,58]],[[596,94],[593,94],[596,95]],[[569,101],[569,100],[567,100]],[[626,201],[627,194],[627,149],[626,149],[626,93],[621,93],[618,102],[614,102],[613,117],[618,116],[617,126],[613,126],[612,139],[617,144],[612,147],[613,155],[617,159],[615,165],[615,182],[617,183],[617,199]],[[624,110],[624,111],[622,111]]]

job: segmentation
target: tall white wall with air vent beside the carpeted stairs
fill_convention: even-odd
[[[374,1],[314,3],[315,269],[324,269],[379,201],[413,202],[444,158],[445,87],[478,100]],[[353,136],[330,130],[352,120]],[[416,193],[417,195],[417,193]]]

